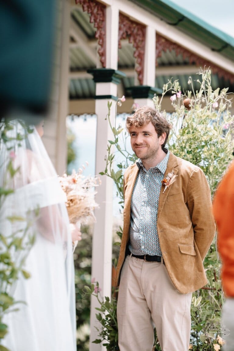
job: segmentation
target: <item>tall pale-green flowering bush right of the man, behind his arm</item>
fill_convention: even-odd
[[[212,90],[210,71],[200,72],[199,75],[199,91],[194,92],[190,78],[192,91],[184,95],[180,93],[178,81],[169,81],[163,86],[162,97],[168,91],[174,94],[172,105],[175,112],[167,116],[175,126],[168,140],[170,150],[203,170],[213,196],[222,174],[233,158],[234,144],[229,128],[233,123],[229,111],[231,99],[227,95],[228,89]],[[190,99],[190,110],[183,105],[184,98]],[[153,100],[155,108],[161,110],[158,97],[154,97]],[[163,113],[166,116],[166,112]],[[206,336],[204,332],[208,323],[220,323],[221,320],[223,293],[219,278],[221,263],[216,250],[216,237],[204,260],[204,267],[208,285],[193,293],[191,307],[193,351],[213,350],[218,336],[218,330],[212,336]]]

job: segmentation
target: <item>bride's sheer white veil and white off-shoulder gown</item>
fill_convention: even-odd
[[[8,333],[2,345],[11,351],[75,351],[74,264],[66,196],[36,128],[28,134],[19,121],[10,125],[0,144],[0,187],[14,192],[1,196],[0,233],[6,244],[22,238],[15,241],[18,246],[12,244],[11,259],[15,264],[26,259],[19,279],[0,286],[25,303],[4,317]],[[19,243],[22,250],[16,250]],[[4,250],[1,245],[0,254]],[[31,277],[25,279],[28,272]]]

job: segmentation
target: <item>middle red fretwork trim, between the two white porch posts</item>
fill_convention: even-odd
[[[146,27],[142,24],[132,21],[122,13],[119,14],[119,49],[121,49],[121,39],[128,38],[129,43],[133,43],[135,48],[134,57],[136,58],[136,72],[140,84],[143,84],[144,74],[144,56],[145,56],[145,38]]]

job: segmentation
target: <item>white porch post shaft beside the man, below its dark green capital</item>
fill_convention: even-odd
[[[102,85],[98,83],[97,85]],[[113,84],[113,83],[111,83]],[[115,86],[115,88],[117,88]],[[114,121],[115,101],[112,101],[111,120]],[[96,100],[95,111],[98,115],[96,135],[96,174],[103,172],[106,168],[105,155],[107,154],[107,143],[112,138],[109,123],[105,120],[107,114],[108,100]],[[101,287],[101,295],[111,297],[111,270],[112,270],[112,202],[113,202],[113,181],[106,176],[101,177],[101,185],[98,187],[96,202],[99,209],[95,211],[96,223],[93,232],[92,243],[92,277],[95,277]],[[95,326],[100,326],[96,320],[95,307],[100,307],[95,297],[91,298],[90,316],[90,351],[106,350],[104,346],[92,344],[98,337]]]

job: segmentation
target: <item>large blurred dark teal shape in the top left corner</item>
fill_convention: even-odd
[[[0,111],[46,110],[56,0],[0,0]]]

